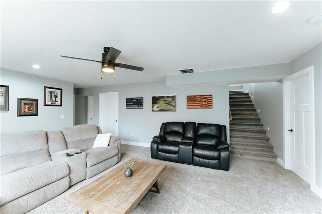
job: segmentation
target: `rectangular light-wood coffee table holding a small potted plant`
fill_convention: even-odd
[[[140,159],[131,159],[125,163],[132,161],[132,177],[124,176],[125,168],[122,164],[66,199],[85,209],[85,213],[130,213],[152,186],[160,193],[158,177],[167,166]]]

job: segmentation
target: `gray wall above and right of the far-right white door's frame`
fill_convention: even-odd
[[[292,74],[314,66],[316,185],[322,188],[322,43],[297,57],[290,64]]]

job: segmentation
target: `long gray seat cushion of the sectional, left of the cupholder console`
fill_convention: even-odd
[[[0,205],[69,175],[66,162],[48,161],[1,176]]]

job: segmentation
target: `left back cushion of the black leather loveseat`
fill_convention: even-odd
[[[164,128],[164,136],[167,141],[181,142],[184,135],[183,122],[167,122]]]

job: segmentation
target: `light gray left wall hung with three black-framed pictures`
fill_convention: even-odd
[[[9,85],[9,111],[0,112],[2,133],[61,130],[73,125],[73,83],[6,69],[0,69],[0,77],[2,85]],[[63,89],[62,107],[44,106],[44,86]],[[17,98],[38,99],[38,116],[17,117]],[[65,119],[60,119],[60,115]]]

